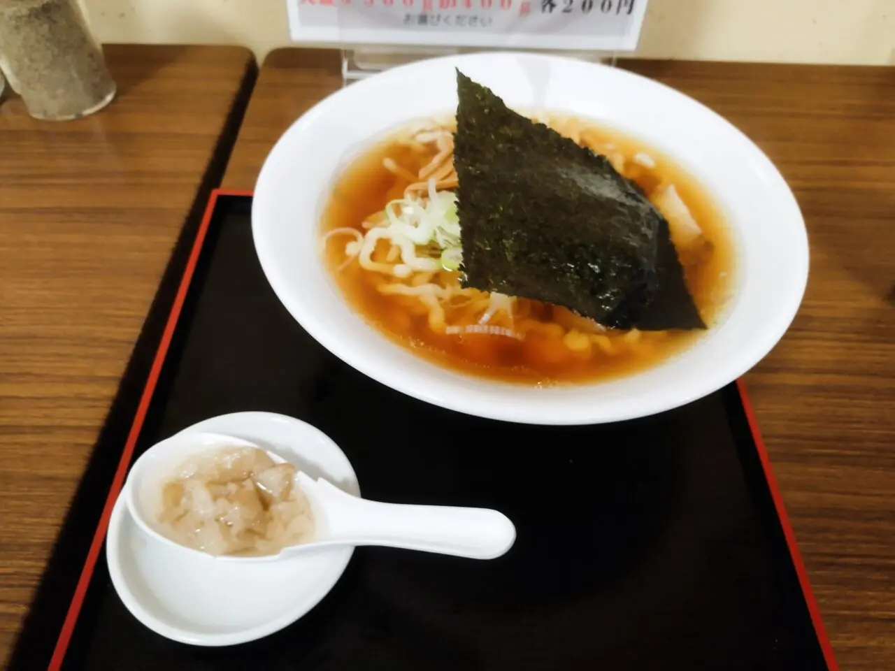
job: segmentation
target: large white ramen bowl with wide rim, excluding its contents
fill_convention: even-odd
[[[633,135],[702,183],[733,229],[734,295],[683,352],[624,378],[557,387],[476,378],[426,361],[368,325],[320,255],[320,219],[338,175],[383,135],[456,109],[456,72],[508,106],[590,118]],[[711,394],[752,368],[796,315],[808,274],[797,202],[752,141],[674,89],[608,66],[531,54],[447,56],[396,67],[322,100],[261,168],[251,211],[261,268],[320,344],[407,395],[481,417],[533,424],[626,420]]]

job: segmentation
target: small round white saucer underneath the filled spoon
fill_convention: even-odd
[[[301,420],[272,412],[235,412],[201,421],[182,434],[203,432],[242,438],[275,451],[303,471],[360,496],[345,453]],[[125,483],[109,521],[109,575],[132,615],[174,641],[234,645],[275,633],[328,594],[354,552],[342,546],[289,561],[221,561],[143,531],[127,509],[129,485]]]

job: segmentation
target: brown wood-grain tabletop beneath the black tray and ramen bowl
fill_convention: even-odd
[[[895,68],[621,66],[726,116],[796,193],[805,302],[746,382],[840,666],[895,668]],[[337,53],[269,55],[223,185],[253,188],[279,135],[340,86]]]

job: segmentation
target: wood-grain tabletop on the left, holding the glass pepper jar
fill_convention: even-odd
[[[0,103],[0,659],[254,67],[237,47],[107,60],[118,98],[97,115]]]

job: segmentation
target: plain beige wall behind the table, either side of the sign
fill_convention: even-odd
[[[284,0],[81,0],[103,42],[289,44]],[[638,55],[895,64],[895,0],[650,0]]]

